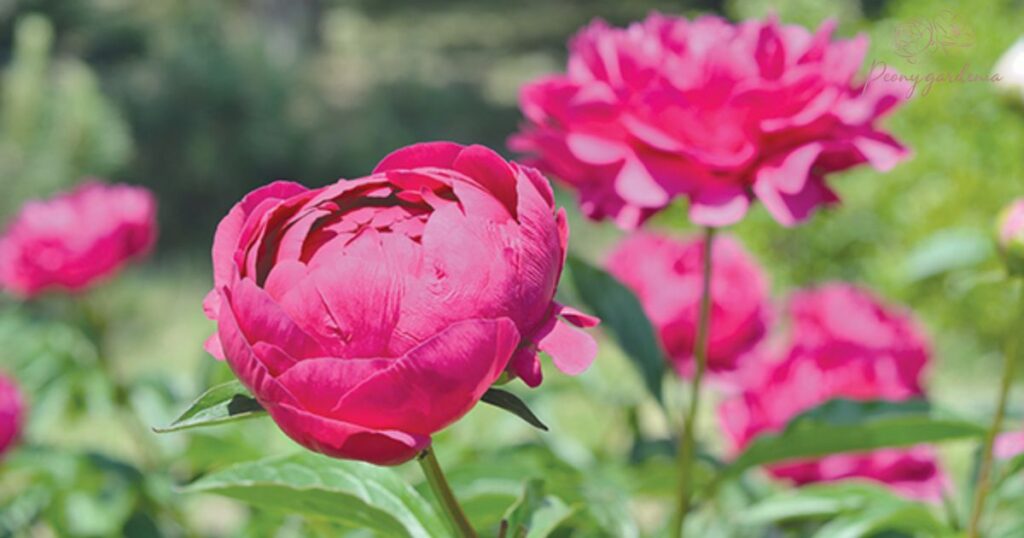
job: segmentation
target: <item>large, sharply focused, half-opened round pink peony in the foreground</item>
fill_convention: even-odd
[[[278,181],[217,229],[208,342],[296,442],[394,464],[538,350],[578,374],[596,320],[554,302],[568,229],[547,180],[479,146],[412,146],[370,176]]]

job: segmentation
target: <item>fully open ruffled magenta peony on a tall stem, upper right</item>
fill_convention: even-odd
[[[698,224],[734,223],[755,198],[796,224],[837,201],[829,172],[907,156],[878,126],[905,84],[855,82],[867,39],[834,41],[834,28],[596,20],[570,42],[565,74],[523,88],[526,122],[510,146],[578,189],[588,215],[624,227],[675,197]]]

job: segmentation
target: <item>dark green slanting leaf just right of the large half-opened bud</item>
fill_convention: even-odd
[[[581,300],[601,319],[602,327],[639,370],[647,389],[662,402],[665,354],[636,295],[608,273],[577,256],[568,256],[568,265]]]

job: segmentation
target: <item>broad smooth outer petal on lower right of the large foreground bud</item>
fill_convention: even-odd
[[[476,405],[518,343],[507,318],[456,323],[345,395],[335,416],[368,427],[437,431]]]

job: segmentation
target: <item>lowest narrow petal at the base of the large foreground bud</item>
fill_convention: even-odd
[[[333,458],[356,459],[377,465],[397,465],[430,445],[429,436],[374,430],[316,416],[287,404],[268,404],[267,411],[296,443]]]

